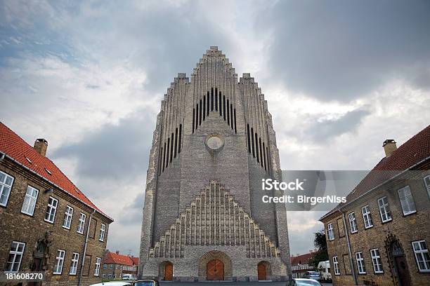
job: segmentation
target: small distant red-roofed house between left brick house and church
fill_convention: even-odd
[[[137,278],[139,259],[119,252],[106,251],[101,270],[102,278],[110,280],[112,278],[123,278],[124,274],[131,275],[131,279]]]

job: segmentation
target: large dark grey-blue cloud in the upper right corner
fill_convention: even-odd
[[[278,1],[257,27],[273,80],[348,101],[390,79],[429,88],[429,15],[429,1]]]

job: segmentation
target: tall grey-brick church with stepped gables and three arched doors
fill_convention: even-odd
[[[287,213],[263,203],[261,179],[282,179],[267,102],[237,81],[216,46],[178,77],[157,115],[147,174],[140,277],[280,280],[289,266]]]

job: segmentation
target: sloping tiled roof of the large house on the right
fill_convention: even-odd
[[[363,196],[367,191],[383,184],[386,180],[408,170],[417,163],[420,163],[430,156],[430,125],[410,138],[398,149],[394,150],[391,156],[384,157],[374,166],[374,168],[361,180],[360,183],[348,193],[346,203],[339,203],[333,210],[327,212],[321,219],[327,217],[332,212],[348,203]],[[321,220],[320,219],[320,220]]]

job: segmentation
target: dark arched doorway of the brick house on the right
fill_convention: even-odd
[[[405,252],[398,238],[390,234],[385,241],[386,252],[389,257],[390,270],[393,275],[393,282],[398,286],[410,286],[410,273]]]

